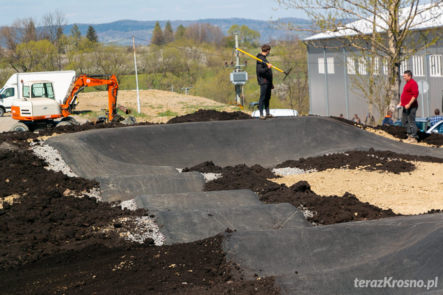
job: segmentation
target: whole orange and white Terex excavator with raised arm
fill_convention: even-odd
[[[54,127],[59,125],[78,124],[69,115],[78,104],[77,95],[89,86],[108,86],[108,109],[106,116],[99,119],[112,121],[117,119],[115,106],[117,105],[117,90],[119,84],[115,75],[86,75],[81,74],[73,78],[63,103],[55,101],[53,85],[50,81],[28,81],[23,83],[21,99],[14,100],[11,105],[12,119],[20,120],[12,126],[10,131],[27,131]],[[61,122],[54,119],[62,118]]]

